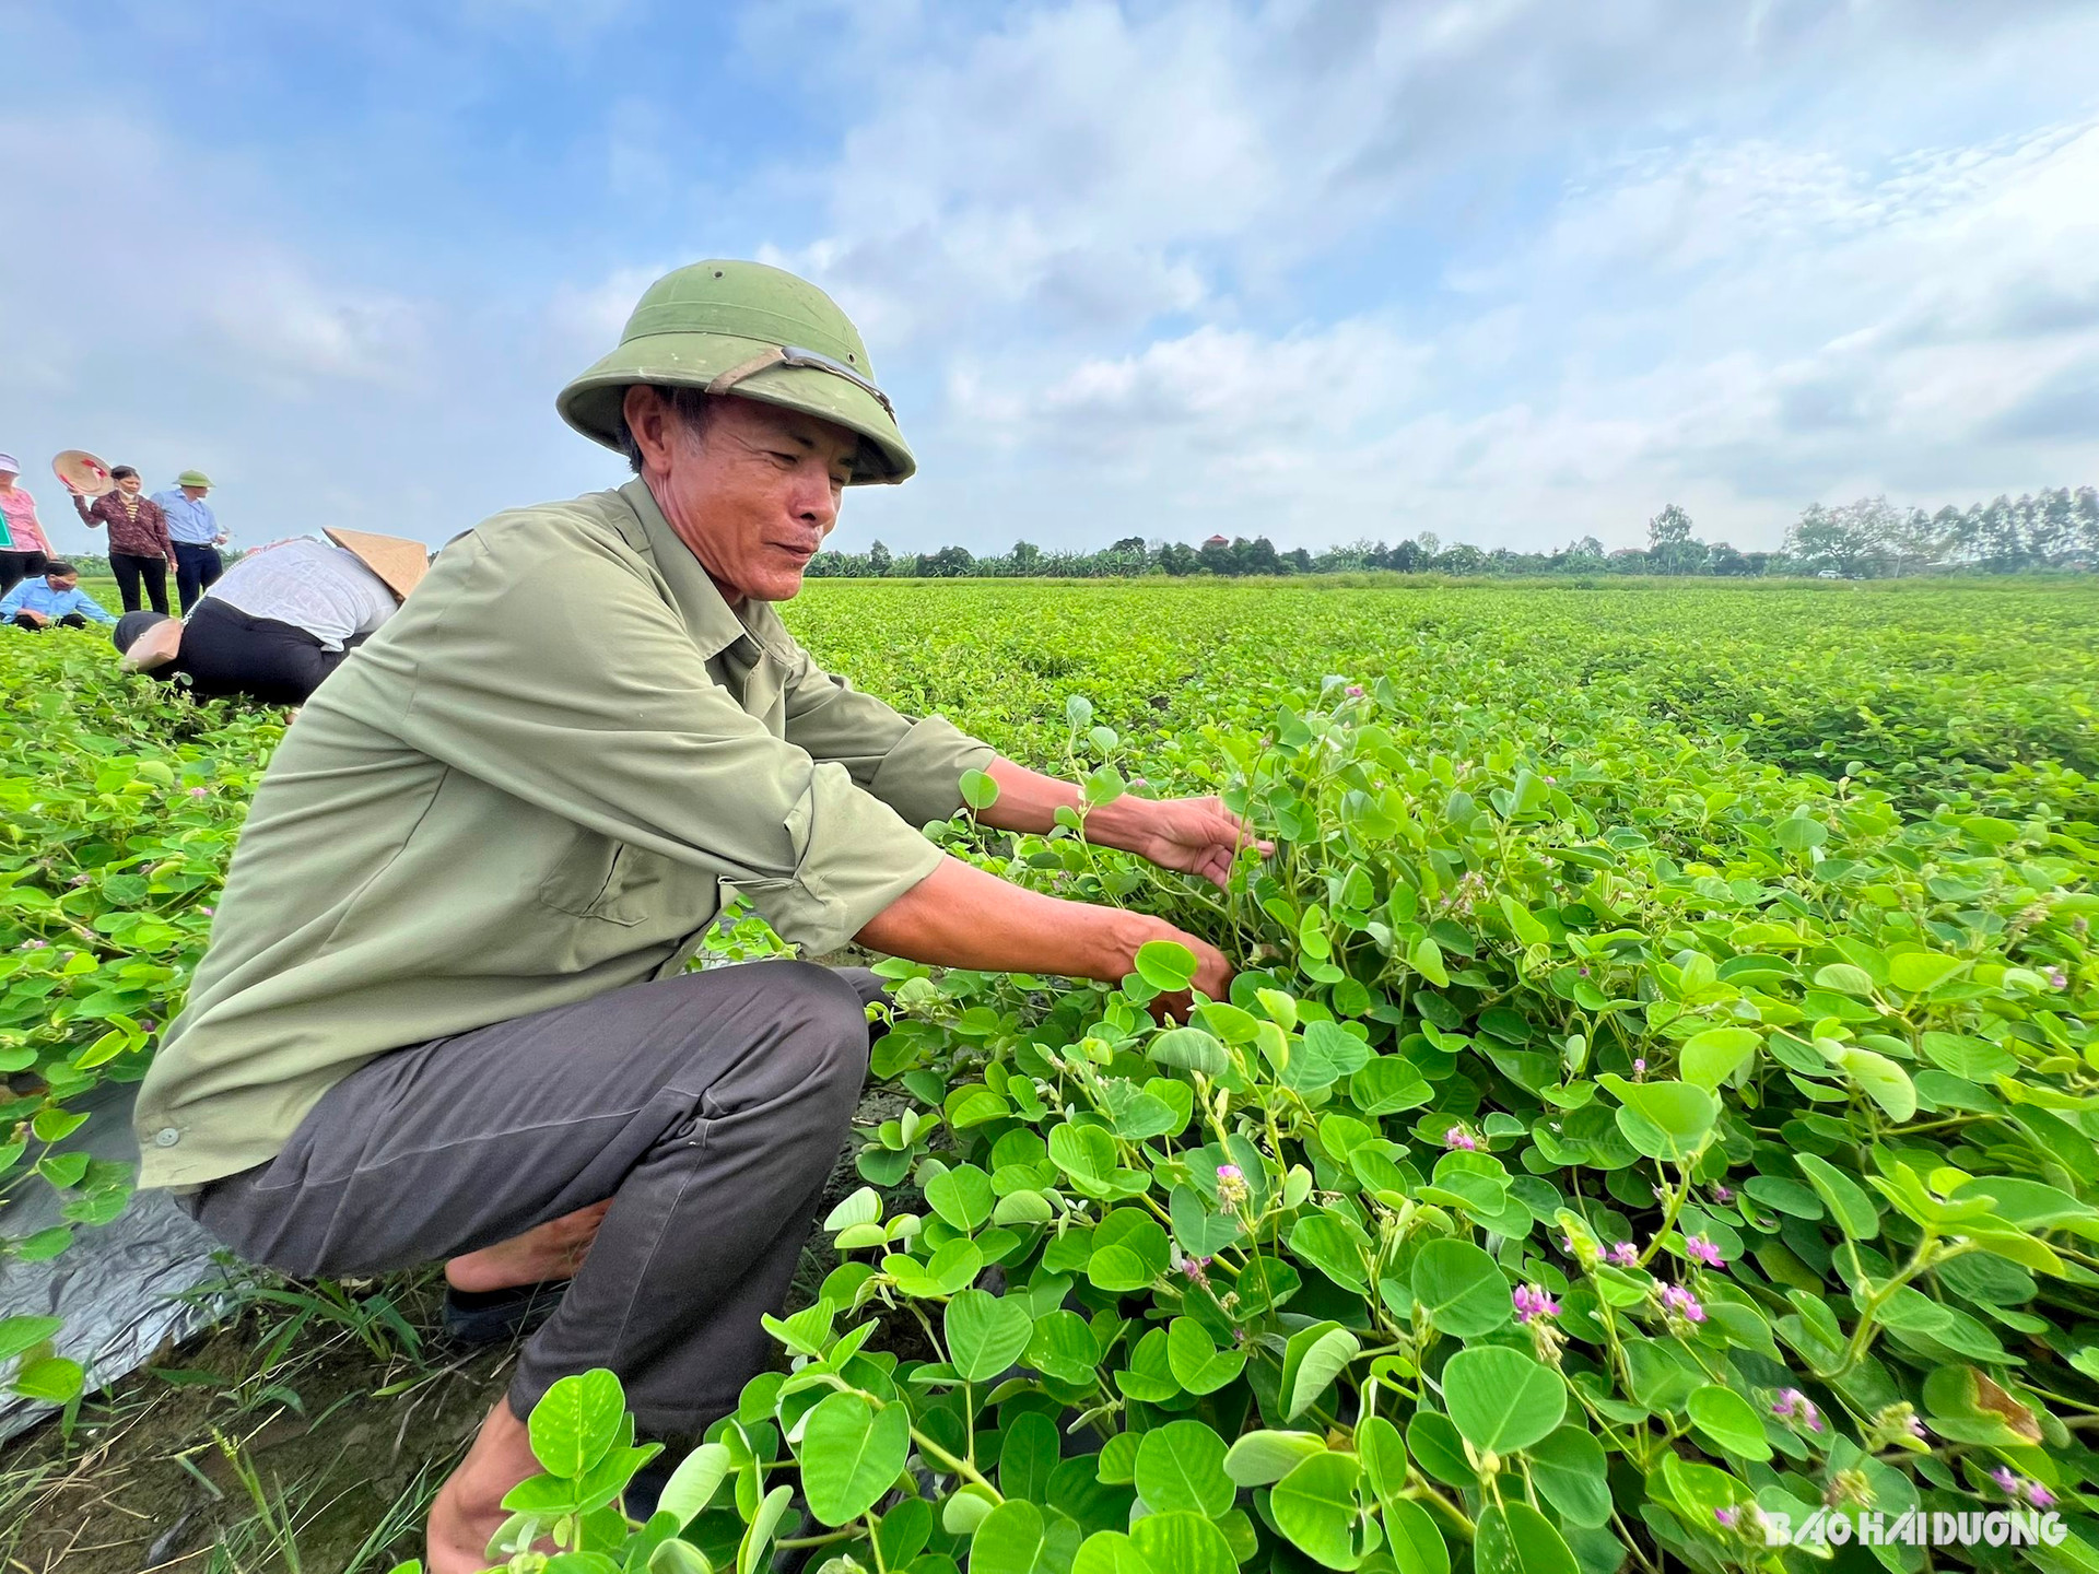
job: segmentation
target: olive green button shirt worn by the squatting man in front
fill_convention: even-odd
[[[833,951],[932,873],[913,827],[991,758],[733,611],[638,481],[497,514],[277,747],[139,1179],[269,1161],[388,1049],[676,974],[730,890]]]

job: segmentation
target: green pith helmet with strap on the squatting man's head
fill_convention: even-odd
[[[619,348],[563,388],[554,409],[619,449],[619,407],[636,382],[735,392],[867,439],[854,483],[903,481],[917,460],[873,378],[861,332],[808,279],[762,262],[693,262],[642,292]]]

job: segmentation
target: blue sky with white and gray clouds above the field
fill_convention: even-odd
[[[302,15],[304,13],[304,15]],[[552,413],[703,256],[861,321],[833,541],[1776,546],[2099,481],[2099,6],[10,0],[0,449],[237,539],[619,476]]]

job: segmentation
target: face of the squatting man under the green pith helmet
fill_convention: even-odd
[[[695,437],[653,388],[628,390],[642,476],[730,604],[791,600],[838,525],[861,439],[756,399],[718,399]]]

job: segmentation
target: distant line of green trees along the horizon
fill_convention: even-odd
[[[1398,546],[1350,541],[1324,552],[1280,552],[1266,535],[1211,535],[1201,546],[1125,535],[1100,552],[1047,552],[1033,541],[1016,541],[997,556],[976,556],[961,546],[892,554],[875,541],[867,552],[819,552],[808,573],[814,579],[1230,579],[1390,569],[1444,575],[1893,579],[1918,573],[2099,571],[2099,491],[2093,487],[1996,497],[1935,514],[1895,508],[1885,497],[1862,497],[1839,508],[1811,504],[1786,531],[1778,552],[1738,552],[1727,541],[1700,541],[1694,529],[1692,516],[1669,504],[1648,520],[1646,548],[1616,552],[1593,535],[1557,552],[1484,552],[1467,541],[1444,546],[1434,531],[1411,535]]]

